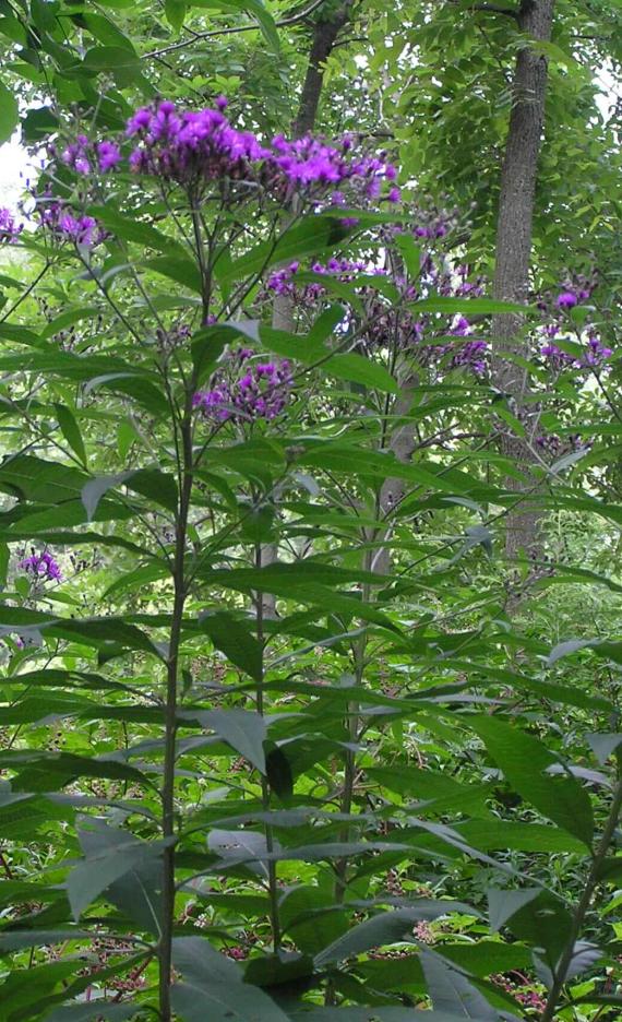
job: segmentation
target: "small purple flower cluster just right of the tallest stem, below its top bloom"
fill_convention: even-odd
[[[291,392],[291,365],[287,359],[259,363],[250,348],[240,348],[229,359],[232,372],[220,370],[212,388],[194,394],[193,406],[215,423],[275,419]]]

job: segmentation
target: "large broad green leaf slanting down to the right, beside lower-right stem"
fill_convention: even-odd
[[[590,848],[594,816],[589,795],[574,777],[547,773],[558,765],[558,758],[537,738],[495,717],[474,717],[469,726],[514,791]]]

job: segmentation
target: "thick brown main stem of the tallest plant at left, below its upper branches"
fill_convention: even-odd
[[[172,930],[175,923],[175,762],[177,735],[177,682],[179,670],[179,646],[181,642],[181,626],[183,608],[187,596],[186,582],[186,540],[188,533],[188,515],[192,494],[192,424],[190,417],[190,401],[181,424],[181,488],[179,508],[176,523],[175,561],[172,579],[175,598],[172,605],[172,621],[170,626],[166,709],[165,709],[165,752],[164,780],[162,791],[163,818],[162,829],[165,839],[170,839],[163,855],[163,923],[159,941],[159,1013],[162,1022],[170,1022],[170,974],[172,965]]]

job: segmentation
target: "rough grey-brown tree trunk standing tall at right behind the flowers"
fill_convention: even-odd
[[[554,0],[524,0],[518,12],[518,26],[536,41],[551,38]],[[529,264],[538,156],[545,124],[547,59],[537,46],[528,43],[518,51],[513,83],[513,106],[501,175],[501,197],[497,226],[497,264],[493,294],[505,301],[523,301],[529,293]],[[523,335],[521,316],[495,316],[492,322],[493,379],[507,395],[513,412],[528,417],[529,381],[526,371],[505,355],[529,357]],[[527,437],[530,429],[525,423]],[[534,491],[537,483],[530,473],[534,456],[528,440],[504,436],[503,453],[523,470],[524,479],[509,479],[510,489]],[[535,501],[522,500],[507,515],[506,554],[515,557],[521,550],[537,556],[540,549],[539,513]]]

